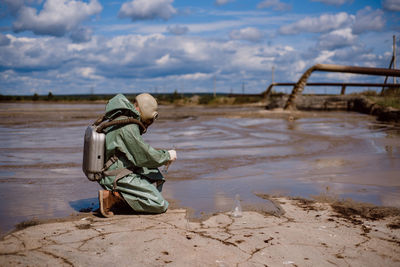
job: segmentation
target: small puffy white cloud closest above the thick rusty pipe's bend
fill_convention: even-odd
[[[353,35],[350,28],[339,29],[324,34],[319,38],[318,46],[320,49],[337,49],[355,44],[357,37]]]

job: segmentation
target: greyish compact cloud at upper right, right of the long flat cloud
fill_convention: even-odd
[[[366,31],[380,31],[385,27],[386,21],[382,10],[372,10],[371,7],[365,7],[356,14],[353,25],[353,32],[363,33]]]

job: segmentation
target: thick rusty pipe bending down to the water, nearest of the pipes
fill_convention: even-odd
[[[303,92],[304,86],[307,84],[308,78],[314,71],[325,71],[325,72],[341,72],[341,73],[353,73],[353,74],[366,74],[366,75],[378,75],[378,76],[393,76],[400,77],[400,70],[397,69],[384,69],[384,68],[369,68],[369,67],[356,67],[356,66],[343,66],[343,65],[331,65],[331,64],[316,64],[306,70],[300,77],[298,82],[293,87],[292,93],[289,96],[288,101],[284,109],[294,109],[294,101],[298,93]]]

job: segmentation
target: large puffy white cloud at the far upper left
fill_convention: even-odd
[[[47,0],[38,13],[35,8],[22,6],[13,23],[15,32],[32,31],[38,35],[63,36],[75,30],[90,16],[100,13],[97,0],[89,3],[74,0]]]

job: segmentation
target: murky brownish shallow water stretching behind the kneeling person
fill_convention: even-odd
[[[0,229],[96,209],[83,134],[104,104],[0,104]],[[161,107],[144,138],[175,148],[164,196],[196,217],[272,207],[255,193],[327,194],[400,207],[400,129],[357,113]]]

